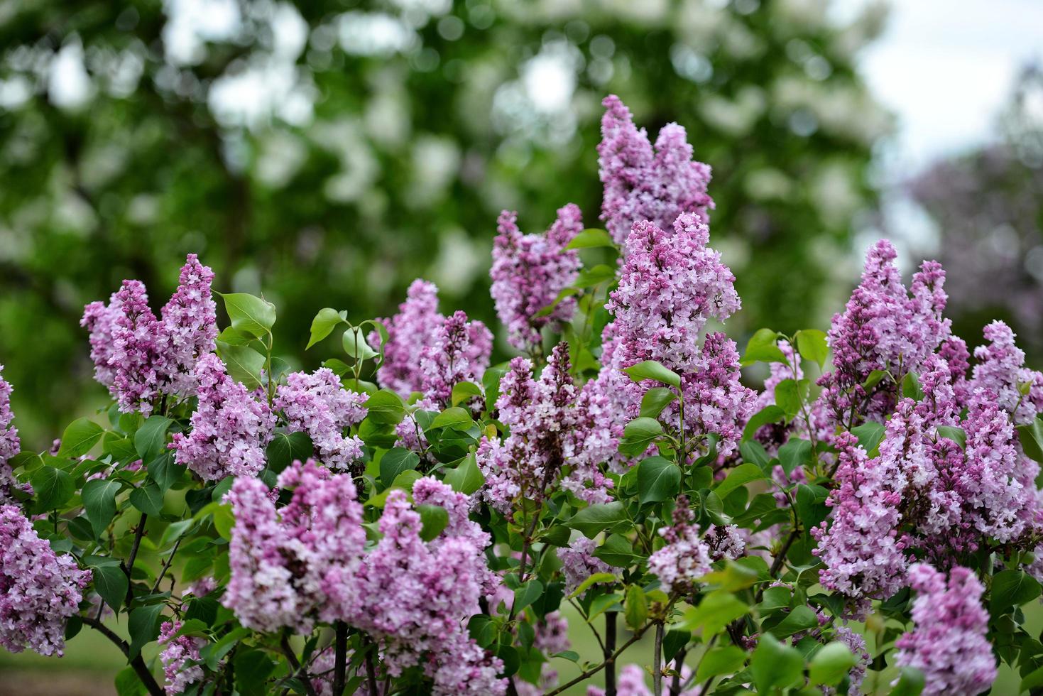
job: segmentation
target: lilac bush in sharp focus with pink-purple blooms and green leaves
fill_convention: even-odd
[[[1037,690],[1043,375],[1013,332],[968,350],[941,266],[906,286],[881,240],[828,331],[741,351],[709,168],[605,105],[607,229],[496,223],[522,355],[417,280],[390,318],[321,309],[336,356],[297,370],[274,305],[190,255],[159,315],[132,280],[86,308],[113,401],[53,449],[0,380],[0,644],[97,630],[153,696]]]

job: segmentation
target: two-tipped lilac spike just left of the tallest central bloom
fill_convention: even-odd
[[[579,253],[565,246],[583,231],[583,219],[580,209],[572,203],[558,210],[558,219],[545,235],[523,235],[516,219],[516,213],[504,211],[500,215],[500,234],[492,243],[490,294],[507,328],[508,342],[519,351],[533,352],[540,345],[543,327],[567,321],[576,310],[576,298],[565,297],[550,314],[538,316],[579,273]]]

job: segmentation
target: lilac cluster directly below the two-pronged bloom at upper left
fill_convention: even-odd
[[[207,481],[226,476],[257,476],[265,466],[265,446],[275,417],[266,401],[228,377],[214,354],[199,359],[195,379],[199,405],[192,431],[174,433],[174,460]]]

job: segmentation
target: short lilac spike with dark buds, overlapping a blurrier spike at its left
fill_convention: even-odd
[[[445,406],[460,382],[481,384],[491,353],[492,333],[478,319],[468,321],[458,310],[420,353],[423,398]]]

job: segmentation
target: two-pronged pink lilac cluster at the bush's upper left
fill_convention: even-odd
[[[95,378],[120,410],[147,416],[162,395],[194,395],[196,361],[216,345],[213,280],[213,271],[190,254],[161,319],[149,309],[140,281],[123,281],[107,306],[95,302],[83,309],[80,326],[90,332]]]

